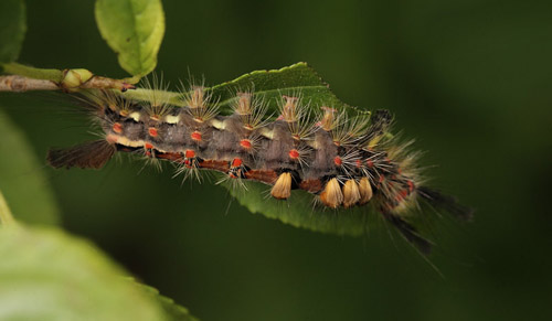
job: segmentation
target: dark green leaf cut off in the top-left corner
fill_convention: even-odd
[[[23,0],[0,1],[0,63],[9,63],[18,58],[25,31]]]

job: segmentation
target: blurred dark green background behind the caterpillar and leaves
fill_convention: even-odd
[[[28,0],[20,62],[124,77],[94,1]],[[63,226],[202,320],[551,320],[549,1],[163,1],[158,71],[208,85],[308,62],[343,101],[389,108],[435,185],[477,208],[438,226],[431,261],[402,239],[337,237],[252,215],[212,184],[113,161],[44,168]],[[2,94],[45,163],[86,140],[60,97]],[[2,143],[2,142],[0,142]],[[9,158],[9,154],[2,154]],[[141,171],[140,171],[141,170]],[[0,173],[25,180],[33,171]],[[33,195],[8,200],[14,208]]]

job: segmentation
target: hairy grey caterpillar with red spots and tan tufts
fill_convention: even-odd
[[[278,108],[269,115],[273,98],[252,86],[232,93],[230,113],[221,113],[211,88],[190,86],[177,106],[163,96],[162,85],[146,87],[149,94],[142,99],[106,89],[77,94],[97,120],[102,139],[51,149],[50,165],[100,169],[116,153],[127,152],[170,162],[184,178],[214,171],[233,182],[261,182],[276,200],[302,190],[328,211],[371,205],[424,254],[432,243],[407,220],[420,200],[464,220],[471,216],[454,196],[424,184],[420,153],[392,135],[389,110],[351,116],[350,109],[317,106],[295,90],[273,95]]]

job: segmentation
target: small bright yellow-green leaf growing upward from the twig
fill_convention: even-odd
[[[98,0],[96,22],[119,65],[134,76],[149,74],[164,34],[160,0]]]

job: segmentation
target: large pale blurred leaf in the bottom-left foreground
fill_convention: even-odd
[[[0,320],[167,320],[89,243],[57,229],[0,229]]]

